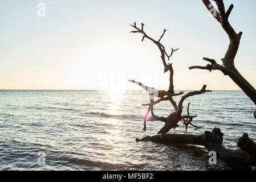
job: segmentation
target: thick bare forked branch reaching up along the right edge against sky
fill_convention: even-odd
[[[237,54],[240,39],[242,36],[242,32],[238,34],[235,33],[233,27],[231,27],[229,23],[229,15],[234,5],[230,5],[229,9],[225,11],[225,6],[223,0],[214,0],[218,7],[218,11],[214,9],[212,3],[209,0],[202,0],[206,8],[210,11],[210,13],[214,12],[213,17],[221,24],[222,28],[225,30],[227,35],[229,36],[229,47],[227,48],[226,54],[222,60],[222,65],[218,64],[214,59],[209,59],[204,57],[203,60],[208,61],[210,64],[205,67],[201,66],[193,66],[189,67],[189,69],[206,69],[210,72],[214,69],[220,70],[224,75],[228,75],[234,82],[237,84],[243,92],[254,102],[256,105],[256,90],[255,88],[238,72],[234,65],[235,55]]]

